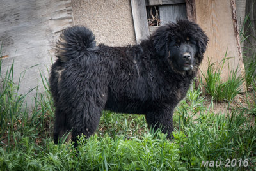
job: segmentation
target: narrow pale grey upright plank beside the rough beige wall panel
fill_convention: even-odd
[[[131,7],[136,43],[140,43],[149,35],[145,0],[131,0]]]

